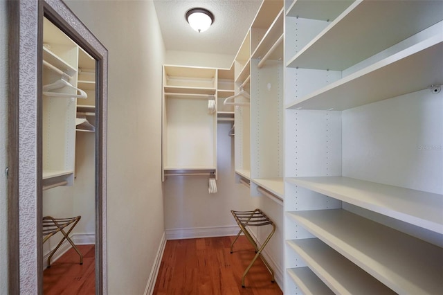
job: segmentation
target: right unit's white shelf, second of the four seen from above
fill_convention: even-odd
[[[343,209],[287,213],[399,294],[443,289],[443,249]]]

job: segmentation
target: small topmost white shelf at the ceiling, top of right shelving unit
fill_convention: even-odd
[[[302,1],[294,0],[289,6],[286,15],[288,17],[300,17],[302,19],[318,19],[323,21],[333,21],[348,8],[354,0],[345,1]]]

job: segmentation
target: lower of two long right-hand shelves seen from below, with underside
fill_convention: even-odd
[[[399,53],[395,53],[394,55],[391,55],[390,57],[386,57],[385,59],[376,62],[365,69],[362,69],[360,71],[357,71],[356,73],[352,73],[351,75],[347,75],[345,78],[342,78],[336,82],[333,82],[331,84],[328,84],[327,86],[318,89],[310,94],[308,94],[305,97],[300,98],[300,100],[297,100],[296,102],[293,102],[289,105],[285,106],[285,109],[298,109],[298,108],[306,108],[306,109],[334,109],[334,110],[344,110],[344,109],[350,109],[352,107],[358,107],[360,105],[366,105],[371,102],[377,102],[379,100],[384,100],[387,98],[392,98],[395,96],[400,96],[406,93],[411,93],[414,91],[419,91],[426,89],[428,86],[430,86],[432,83],[432,80],[443,79],[443,74],[441,77],[426,77],[422,76],[421,80],[423,80],[426,77],[426,82],[420,82],[420,79],[417,78],[417,81],[415,84],[407,84],[404,85],[404,87],[399,87],[398,84],[392,83],[391,81],[384,80],[384,75],[381,75],[383,80],[376,80],[376,82],[372,82],[372,84],[378,84],[378,88],[375,87],[375,85],[369,85],[372,89],[374,89],[373,93],[365,93],[365,91],[361,91],[361,88],[359,87],[352,87],[354,84],[365,84],[361,82],[361,80],[370,77],[376,74],[376,73],[382,73],[383,71],[389,71],[391,67],[393,66],[401,66],[403,64],[406,64],[407,62],[410,62],[410,57],[414,57],[414,55],[422,53],[422,51],[426,51],[427,49],[432,49],[433,46],[439,46],[435,51],[443,50],[443,34],[437,35],[434,37],[431,37],[429,39],[426,39],[423,42],[419,42],[418,44],[415,44],[414,46],[411,46],[410,48],[406,48],[403,51],[400,51]],[[442,47],[442,48],[440,48]],[[432,60],[432,59],[430,59]],[[421,64],[421,62],[419,62]],[[437,63],[435,63],[437,64]],[[438,65],[437,65],[438,66]],[[426,66],[425,66],[426,67]],[[437,70],[436,70],[437,71]],[[431,71],[430,71],[431,72]],[[402,75],[415,75],[414,73],[407,73],[404,71],[403,73],[400,73]],[[415,75],[417,76],[417,75]],[[399,79],[400,81],[406,80],[406,79]],[[428,81],[428,82],[427,82]],[[441,81],[443,82],[443,81]],[[420,84],[421,83],[421,84]],[[383,86],[388,87],[388,89],[384,89],[380,86],[380,84],[384,84]],[[426,84],[426,86],[424,85]],[[366,84],[367,85],[367,84]],[[368,85],[367,85],[368,87]],[[406,87],[406,88],[405,88]],[[348,100],[344,101],[344,99],[347,97],[345,94],[343,94],[343,91],[346,91],[347,89],[351,89],[349,94],[347,96],[353,96],[359,97],[359,100]],[[355,89],[353,89],[355,88]],[[333,91],[339,92],[341,89],[344,89],[342,92],[336,94],[336,98],[328,96]],[[392,93],[392,91],[394,91]],[[327,98],[323,98],[323,96],[328,96]],[[314,100],[320,100],[320,102],[317,103],[317,105],[321,105],[321,107],[309,107],[309,103],[311,102],[311,105],[314,103]],[[338,102],[343,102],[340,105]]]

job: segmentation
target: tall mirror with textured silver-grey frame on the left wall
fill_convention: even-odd
[[[47,289],[63,235],[43,243],[43,217],[80,215],[69,237],[93,245],[85,275],[106,294],[107,50],[61,0],[10,2],[10,293]]]

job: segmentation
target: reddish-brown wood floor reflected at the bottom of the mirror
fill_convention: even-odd
[[[83,254],[83,265],[74,249],[69,249],[51,267],[43,271],[43,293],[51,294],[96,294],[95,247],[78,245]]]

